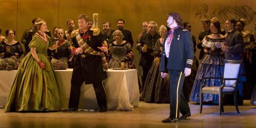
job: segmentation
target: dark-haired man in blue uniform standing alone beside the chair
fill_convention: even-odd
[[[188,102],[181,90],[185,76],[191,73],[194,58],[193,41],[189,30],[183,29],[180,15],[169,13],[167,26],[171,30],[165,36],[160,71],[163,78],[167,73],[170,78],[170,116],[163,119],[163,123],[177,122],[191,116]]]

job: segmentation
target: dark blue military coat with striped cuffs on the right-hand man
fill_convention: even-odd
[[[191,68],[194,59],[194,46],[189,30],[180,27],[174,29],[169,58],[166,58],[165,41],[169,33],[164,39],[160,71],[166,73],[168,69],[184,71],[185,67]]]

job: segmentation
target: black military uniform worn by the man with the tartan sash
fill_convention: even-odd
[[[107,99],[105,87],[103,86],[102,81],[103,79],[107,78],[107,73],[106,70],[103,70],[101,56],[86,53],[85,51],[82,54],[76,54],[75,52],[78,47],[83,47],[83,45],[79,46],[78,41],[80,39],[83,39],[83,41],[92,48],[92,51],[97,51],[99,53],[101,51],[97,47],[101,47],[103,45],[102,42],[106,43],[106,41],[103,40],[102,34],[99,31],[95,33],[95,31],[92,29],[89,30],[89,28],[85,33],[82,33],[82,31],[79,31],[79,29],[73,30],[71,33],[71,39],[72,42],[69,49],[74,55],[76,55],[76,59],[71,78],[69,105],[68,109],[65,111],[74,111],[78,109],[81,86],[83,82],[85,82],[85,84],[93,85],[98,105],[102,112],[106,111]]]

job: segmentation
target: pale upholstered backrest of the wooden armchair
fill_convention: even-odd
[[[241,67],[242,60],[224,60],[224,75],[223,78],[238,78],[239,69]],[[225,86],[235,86],[236,81],[227,80]]]

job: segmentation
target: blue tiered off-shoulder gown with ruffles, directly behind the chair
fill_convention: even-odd
[[[200,89],[203,85],[203,77],[223,77],[224,71],[224,59],[220,54],[222,43],[225,42],[225,38],[211,39],[205,37],[203,40],[203,46],[209,50],[208,54],[205,54],[201,63],[199,64],[193,89],[191,91],[190,100],[194,102],[200,101]],[[215,47],[215,50],[210,50],[211,47]],[[221,86],[221,79],[211,79],[205,81],[205,86]],[[219,102],[218,94],[204,94],[203,102]]]

